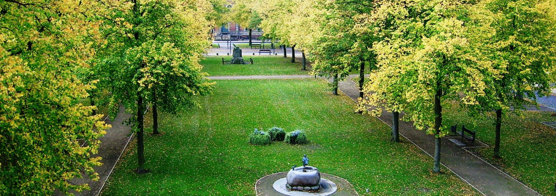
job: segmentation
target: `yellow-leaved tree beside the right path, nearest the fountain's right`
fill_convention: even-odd
[[[364,86],[366,104],[405,111],[406,120],[435,136],[433,172],[440,172],[440,138],[449,130],[442,125],[445,100],[476,105],[489,84],[488,64],[477,60],[469,44],[465,11],[460,1],[383,1],[372,14],[378,70]],[[479,97],[479,98],[478,98]]]

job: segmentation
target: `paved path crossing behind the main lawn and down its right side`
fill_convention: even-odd
[[[351,97],[354,101],[359,96],[359,89],[350,78],[358,75],[350,75],[345,81],[339,82],[339,90]],[[297,79],[303,78],[299,75],[272,75],[272,76],[215,76],[211,79]],[[305,77],[312,78],[312,76]],[[320,77],[319,77],[320,78]],[[331,81],[328,79],[328,81]],[[404,114],[400,114],[400,118]],[[391,126],[392,115],[383,110],[378,117],[381,121]],[[400,121],[400,134],[426,154],[434,154],[434,136],[424,131],[416,130],[412,122]],[[518,180],[510,177],[507,173],[485,162],[478,156],[469,152],[465,147],[457,146],[449,138],[443,138],[441,149],[441,162],[454,172],[466,183],[478,190],[483,195],[540,195],[533,189],[527,187]],[[480,141],[478,141],[480,143]],[[432,157],[432,156],[431,156]],[[431,162],[432,168],[432,162]]]

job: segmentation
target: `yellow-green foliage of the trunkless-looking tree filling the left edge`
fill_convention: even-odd
[[[95,1],[0,2],[0,195],[90,189],[108,125],[80,103],[95,89],[73,73],[102,43]],[[87,142],[81,146],[79,140]]]

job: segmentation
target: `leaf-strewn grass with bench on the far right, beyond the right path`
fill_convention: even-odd
[[[499,167],[519,179],[542,195],[556,195],[556,129],[540,122],[554,122],[553,112],[528,111],[523,115],[509,114],[502,118],[500,131],[500,154],[494,156],[494,112],[488,119],[471,118],[459,110],[457,104],[446,104],[443,112],[444,126],[458,123],[458,129],[465,124],[469,130],[477,131],[477,138],[490,147],[475,148],[473,152],[487,162]]]

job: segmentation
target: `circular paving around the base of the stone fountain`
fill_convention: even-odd
[[[347,180],[321,173],[321,189],[296,191],[286,188],[287,172],[270,174],[262,177],[255,183],[255,193],[257,195],[267,196],[347,196],[359,195]]]

